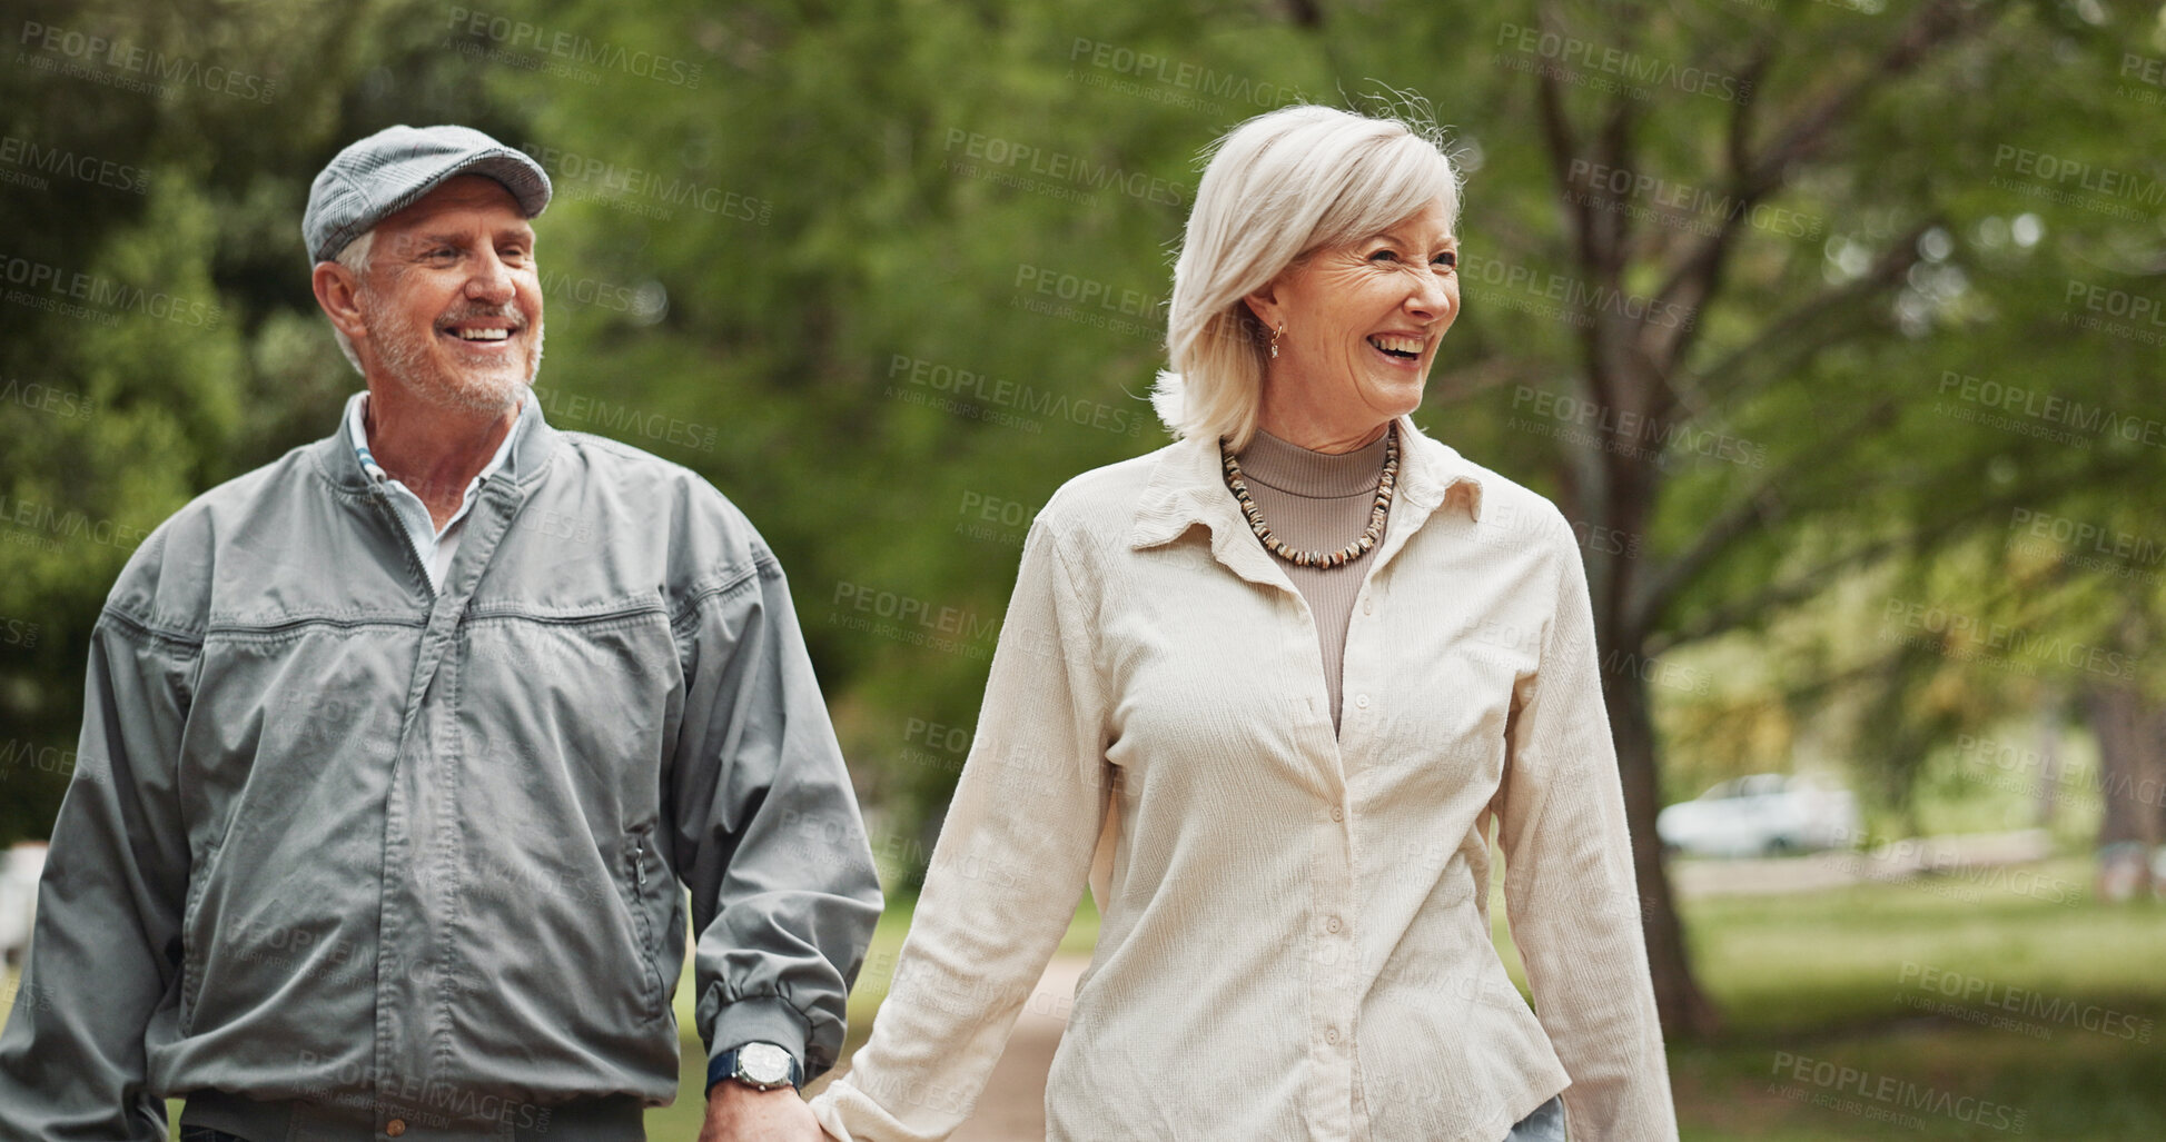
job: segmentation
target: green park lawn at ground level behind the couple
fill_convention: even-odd
[[[2099,904],[2088,878],[2086,858],[2060,858],[2021,878],[1692,901],[1694,964],[1724,1031],[1670,1049],[1683,1138],[2166,1138],[2166,906]],[[897,899],[851,995],[849,1049],[908,925],[910,901]],[[1061,947],[1083,953],[1094,938],[1085,901]],[[684,1094],[648,1114],[656,1140],[700,1129],[704,1053],[689,1001],[687,979]]]

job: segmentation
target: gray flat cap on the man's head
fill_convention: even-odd
[[[548,171],[474,128],[383,128],[338,152],[308,189],[301,238],[310,264],[338,258],[347,243],[453,176],[503,182],[529,219],[548,206]]]

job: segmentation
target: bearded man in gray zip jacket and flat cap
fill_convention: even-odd
[[[529,394],[548,176],[390,128],[310,189],[340,425],[160,524],[91,639],[0,1138],[823,1138],[879,914],[773,553]]]

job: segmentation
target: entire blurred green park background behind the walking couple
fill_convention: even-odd
[[[2166,1138],[2160,4],[4,0],[0,35],[0,841],[50,828],[134,544],[360,386],[312,176],[459,121],[557,184],[548,418],[700,470],[791,572],[892,899],[862,1040],[1031,516],[1165,442],[1198,150],[1419,106],[1469,176],[1419,420],[1579,531],[1685,1138]],[[1657,845],[1759,774],[1796,780],[1722,791],[1841,791],[1839,828],[1726,797],[1761,823]],[[1029,1114],[1018,1066],[988,1114]]]

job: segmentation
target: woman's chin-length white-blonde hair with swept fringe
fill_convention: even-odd
[[[1460,171],[1427,124],[1315,104],[1256,115],[1204,158],[1150,403],[1174,436],[1241,449],[1271,340],[1243,299],[1313,251],[1380,234],[1436,199],[1456,228]]]

